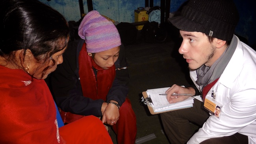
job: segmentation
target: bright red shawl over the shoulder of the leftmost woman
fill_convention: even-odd
[[[45,81],[0,66],[0,142],[58,144],[56,122],[54,100]]]

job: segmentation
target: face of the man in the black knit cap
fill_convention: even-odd
[[[201,32],[181,31],[183,38],[179,53],[183,54],[189,68],[196,70],[202,65],[211,66],[216,48],[210,43],[208,37]]]

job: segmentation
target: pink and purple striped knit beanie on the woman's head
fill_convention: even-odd
[[[85,40],[87,52],[97,53],[121,45],[121,39],[113,22],[98,11],[90,11],[83,17],[78,35]]]

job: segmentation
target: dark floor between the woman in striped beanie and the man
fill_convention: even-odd
[[[169,33],[169,32],[168,32]],[[188,85],[189,71],[182,55],[178,54],[180,38],[168,35],[165,42],[147,43],[141,33],[134,44],[126,45],[126,60],[130,72],[129,99],[137,118],[136,144],[169,144],[163,132],[160,115],[152,115],[141,102],[147,89]],[[110,133],[114,144],[115,133]]]

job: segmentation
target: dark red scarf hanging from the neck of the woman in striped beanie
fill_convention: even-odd
[[[79,53],[78,63],[83,96],[93,100],[102,99],[106,101],[108,91],[115,79],[115,65],[111,66],[108,70],[98,66],[93,61],[93,58],[88,55],[85,43]],[[93,68],[97,70],[96,76]],[[74,122],[83,117],[83,115],[64,112],[61,109],[60,114],[64,123]]]

